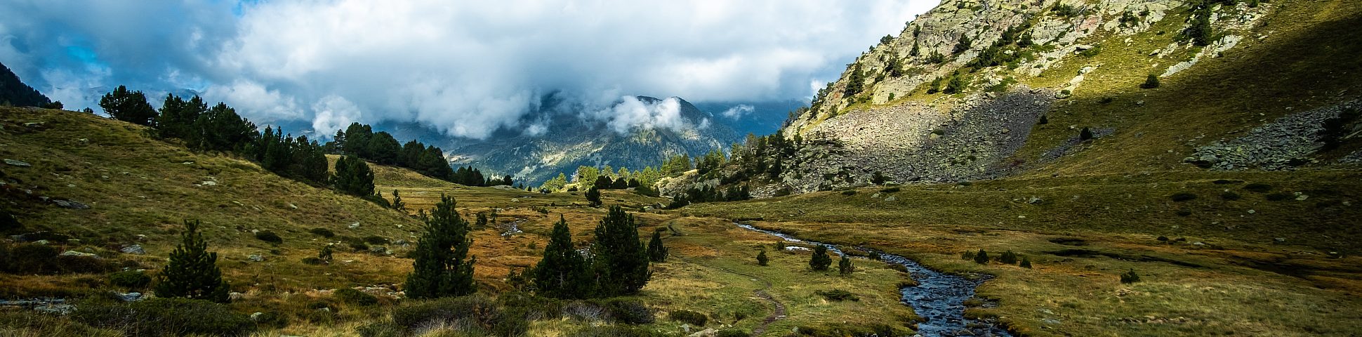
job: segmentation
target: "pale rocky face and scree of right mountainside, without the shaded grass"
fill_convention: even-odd
[[[1032,126],[1100,80],[1094,72],[1170,78],[1260,38],[1250,29],[1272,7],[1229,3],[1208,1],[1207,14],[1175,0],[943,1],[862,53],[780,131],[804,146],[753,194],[865,184],[874,172],[898,183],[1007,175]],[[1199,22],[1214,34],[1197,35]],[[1092,60],[1137,45],[1155,48],[1143,60]]]

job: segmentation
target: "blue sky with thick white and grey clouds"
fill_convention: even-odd
[[[99,111],[99,96],[127,85],[155,106],[197,93],[319,135],[417,121],[486,138],[533,132],[524,117],[550,93],[612,128],[667,123],[612,116],[628,96],[808,100],[937,3],[4,0],[0,63],[68,109]]]

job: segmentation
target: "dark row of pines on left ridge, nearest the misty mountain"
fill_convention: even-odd
[[[369,124],[350,123],[338,130],[335,141],[327,143],[332,151],[355,156],[373,162],[409,168],[421,175],[463,186],[512,186],[511,176],[501,179],[484,176],[473,166],[455,171],[444,158],[444,150],[415,139],[398,145],[387,131],[373,132]]]

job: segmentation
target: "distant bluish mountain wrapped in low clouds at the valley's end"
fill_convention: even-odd
[[[720,117],[677,97],[625,97],[603,112],[613,119],[606,121],[583,119],[586,113],[592,112],[546,100],[534,113],[541,127],[537,132],[503,131],[486,141],[454,138],[443,147],[449,149],[452,165],[474,165],[538,184],[558,173],[571,177],[583,165],[642,169],[671,156],[727,149],[741,139]],[[646,123],[625,124],[625,117]]]

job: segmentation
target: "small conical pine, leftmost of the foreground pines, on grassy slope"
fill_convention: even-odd
[[[208,252],[208,241],[199,233],[199,221],[184,221],[180,246],[170,252],[170,262],[157,274],[157,297],[189,297],[227,303],[230,288],[218,269],[218,254]]]

